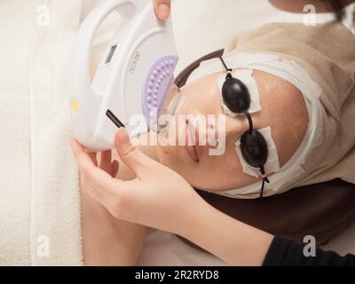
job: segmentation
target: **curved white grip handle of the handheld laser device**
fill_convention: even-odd
[[[99,96],[96,96],[91,88],[90,60],[92,42],[101,23],[114,11],[119,12],[126,20],[130,19],[143,9],[145,4],[147,4],[146,0],[106,0],[99,4],[83,21],[76,37],[74,56],[71,60],[74,67],[72,68],[74,71],[72,80],[75,80],[76,88],[78,88],[73,91],[77,99],[85,99],[81,96],[90,95],[99,100]],[[98,103],[96,99],[92,103]]]

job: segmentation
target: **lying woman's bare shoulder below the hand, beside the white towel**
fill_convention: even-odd
[[[146,238],[146,228],[114,219],[101,205],[82,193],[84,264],[135,265]]]

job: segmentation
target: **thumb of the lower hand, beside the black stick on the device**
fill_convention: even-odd
[[[152,172],[154,165],[159,165],[158,162],[146,156],[146,154],[143,154],[136,146],[131,144],[130,136],[124,128],[118,130],[114,142],[122,162],[130,170],[133,170],[138,178],[145,177],[149,172]]]

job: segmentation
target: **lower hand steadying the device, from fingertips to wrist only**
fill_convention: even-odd
[[[115,145],[122,162],[135,173],[135,179],[114,178],[117,162],[111,164],[107,160],[98,167],[90,154],[72,140],[84,190],[118,219],[171,233],[184,231],[181,226],[201,203],[201,197],[183,177],[132,146],[126,130],[118,131]],[[107,170],[112,165],[114,172]],[[191,210],[187,210],[189,207]]]

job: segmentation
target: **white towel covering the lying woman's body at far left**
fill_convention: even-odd
[[[69,147],[69,53],[81,0],[0,2],[0,264],[83,264]]]

